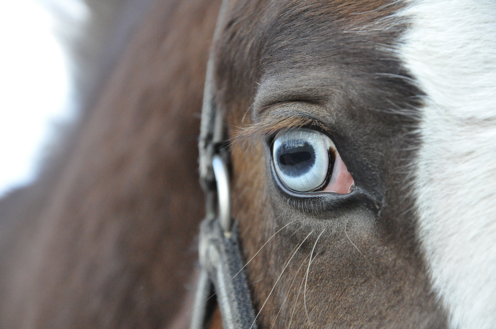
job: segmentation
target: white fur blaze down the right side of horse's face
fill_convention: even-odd
[[[411,0],[400,56],[428,95],[418,236],[450,328],[496,328],[496,2]]]

